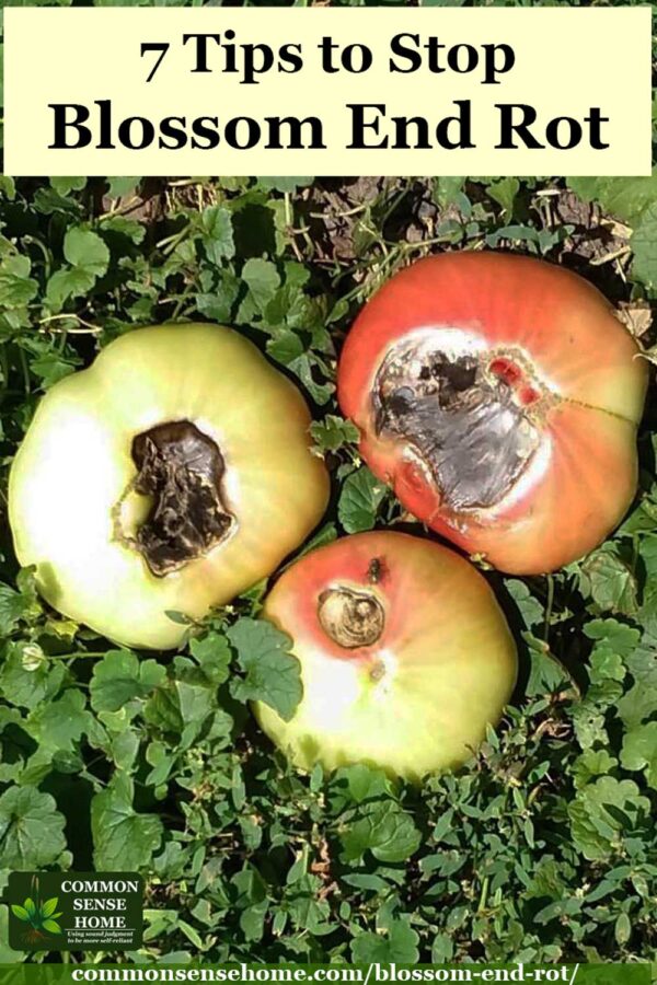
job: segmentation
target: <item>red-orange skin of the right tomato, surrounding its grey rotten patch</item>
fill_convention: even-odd
[[[539,461],[494,507],[450,510],[407,443],[376,432],[377,373],[423,328],[459,329],[493,362],[519,354],[535,373],[521,393],[541,434]],[[442,254],[392,277],[365,306],[341,356],[338,399],[364,459],[418,520],[502,570],[541,573],[603,541],[635,495],[647,385],[638,351],[611,304],[575,274],[517,255]]]

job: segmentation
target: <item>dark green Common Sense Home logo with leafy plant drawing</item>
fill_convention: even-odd
[[[11,872],[9,945],[19,951],[125,951],[141,947],[137,872]]]

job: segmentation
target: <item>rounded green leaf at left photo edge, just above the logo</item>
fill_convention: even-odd
[[[2,864],[9,869],[43,869],[66,848],[64,815],[55,799],[34,787],[10,787],[0,797]]]

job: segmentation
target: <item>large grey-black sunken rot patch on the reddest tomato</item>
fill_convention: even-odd
[[[377,433],[407,443],[458,510],[493,507],[516,485],[540,444],[540,398],[520,354],[448,354],[430,335],[393,347],[372,392]]]

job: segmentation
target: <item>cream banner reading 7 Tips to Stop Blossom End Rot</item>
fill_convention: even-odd
[[[647,7],[7,8],[4,38],[13,175],[650,170]]]

